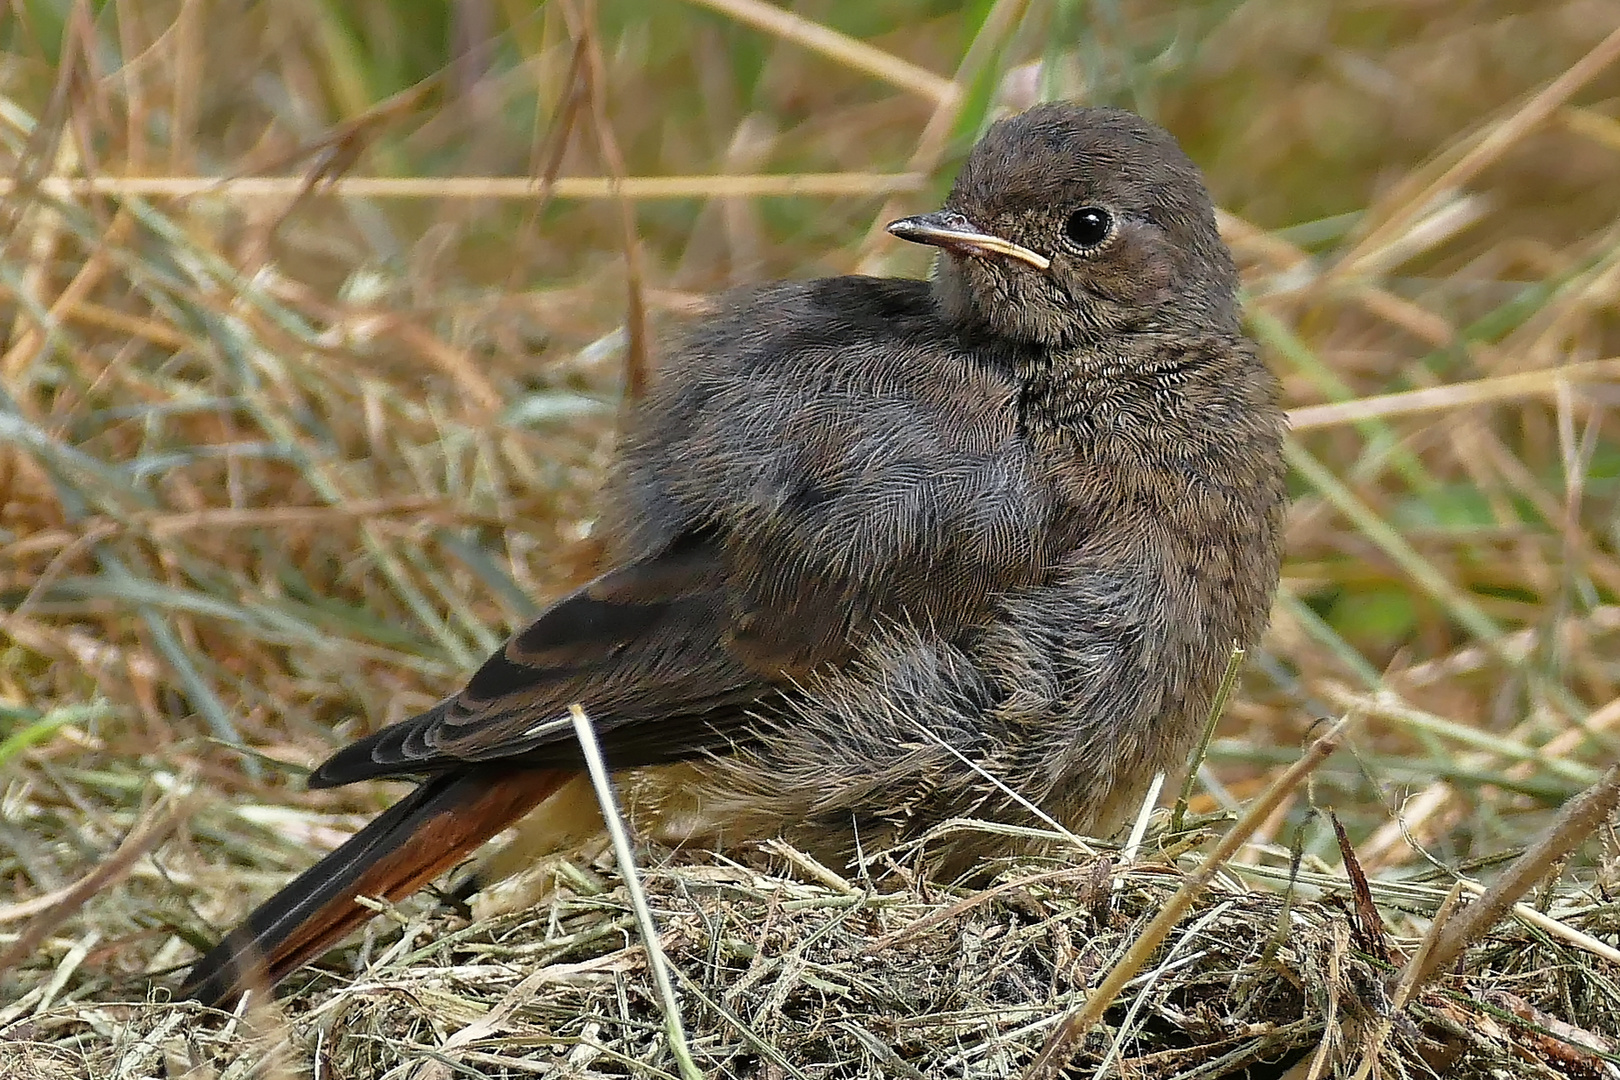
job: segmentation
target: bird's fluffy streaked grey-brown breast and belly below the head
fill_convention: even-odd
[[[1278,547],[1264,541],[1283,521],[1281,413],[1270,392],[1243,402],[1239,423],[1205,408],[1228,374],[1192,364],[1089,418],[1059,486],[1055,521],[1068,533],[1047,539],[1056,554],[1043,580],[1003,588],[996,617],[954,640],[883,635],[865,664],[808,682],[758,750],[710,766],[716,819],[833,855],[967,813],[1037,824],[927,738],[922,717],[1069,827],[1116,824],[1153,772],[1181,764],[1226,651],[1259,636],[1277,580]],[[1147,453],[1163,431],[1189,453]],[[906,813],[872,814],[873,787]],[[959,834],[936,858],[959,871],[1006,844]]]

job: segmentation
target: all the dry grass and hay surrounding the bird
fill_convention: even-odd
[[[1293,1048],[1351,1077],[1375,1043],[1385,1075],[1615,1075],[1612,1043],[1558,1048],[1620,1031],[1620,963],[1557,936],[1620,931],[1612,818],[1461,973],[1388,997],[1453,882],[1620,745],[1612,3],[760,8],[0,19],[0,950],[34,946],[0,970],[0,1074],[671,1072],[603,866],[437,939],[462,923],[407,908],[280,1014],[199,1022],[149,973],[387,797],[305,792],[306,763],[586,572],[663,325],[737,280],[920,274],[873,223],[933,204],[996,108],[1084,94],[1205,167],[1299,421],[1285,588],[1196,810],[1356,717],[1106,1014],[1113,1075]],[[841,889],[779,853],[646,884],[718,1075],[1011,1075],[1205,834],[1150,837],[1118,889],[1076,858],[974,895],[904,857]]]

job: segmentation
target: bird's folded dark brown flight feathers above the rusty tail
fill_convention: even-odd
[[[732,648],[734,604],[714,542],[688,536],[551,606],[428,712],[339,750],[309,784],[423,776],[470,763],[570,767],[569,706],[612,767],[659,764],[744,738],[786,675]]]

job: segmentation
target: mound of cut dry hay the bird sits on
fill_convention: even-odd
[[[643,871],[706,1075],[1019,1075],[1178,884],[1170,861],[1116,871],[1103,857],[1019,863],[980,891],[951,889],[906,884],[904,866],[883,858],[876,884],[838,889],[794,873],[795,861],[687,855]],[[1246,878],[1231,868],[1197,899],[1066,1075],[1094,1075],[1105,1059],[1097,1075],[1244,1075],[1314,1054],[1324,1036],[1328,1061],[1361,1059],[1388,1018],[1390,957],[1413,952],[1409,934],[1447,889],[1392,894],[1406,936],[1379,955],[1358,942],[1343,894],[1290,899]],[[1302,878],[1306,889],[1346,884]],[[582,887],[593,879],[599,887]],[[1563,895],[1552,912],[1576,931],[1620,931],[1615,902]],[[32,967],[60,970],[76,947],[52,942]],[[11,1069],[71,1062],[120,1080],[177,1065],[222,1078],[676,1075],[629,899],[606,866],[559,876],[520,913],[403,916],[240,1017],[170,1004],[164,989],[143,996],[131,980],[70,976],[63,989],[70,1001],[0,1028]],[[1379,1051],[1382,1075],[1443,1065],[1450,1077],[1610,1077],[1614,1041],[1604,1054],[1575,1044],[1612,1040],[1617,1015],[1620,963],[1510,923],[1409,1002]],[[1554,1030],[1552,1017],[1571,1027]]]

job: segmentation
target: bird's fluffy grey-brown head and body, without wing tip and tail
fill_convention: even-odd
[[[739,296],[625,449],[624,554],[718,528],[732,633],[799,672],[705,803],[823,853],[1027,818],[944,742],[1113,827],[1183,761],[1278,575],[1283,416],[1213,207],[1153,125],[1045,105],[891,230],[944,248],[932,285]]]

